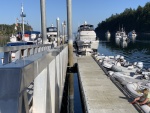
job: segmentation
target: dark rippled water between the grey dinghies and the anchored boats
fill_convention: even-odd
[[[119,42],[111,37],[101,40],[98,52],[104,55],[122,55],[129,62],[141,61],[150,68],[150,35],[141,35],[134,40]]]

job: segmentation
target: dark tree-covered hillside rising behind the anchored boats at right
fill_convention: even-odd
[[[112,14],[111,17],[99,23],[95,31],[97,35],[108,30],[114,33],[122,26],[126,32],[135,30],[139,33],[150,33],[150,2],[144,7],[127,8],[123,13]]]

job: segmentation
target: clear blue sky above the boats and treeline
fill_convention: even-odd
[[[67,20],[66,0],[46,1],[46,23],[56,25],[56,18],[60,24]],[[87,21],[97,27],[97,24],[112,14],[121,13],[126,8],[136,9],[144,6],[149,0],[72,0],[72,26],[73,32],[77,27]],[[40,0],[1,0],[0,24],[13,24],[20,18],[21,4],[24,4],[26,21],[34,30],[41,30]]]

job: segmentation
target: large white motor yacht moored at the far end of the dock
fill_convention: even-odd
[[[96,38],[94,26],[86,22],[80,25],[75,42],[78,53],[90,55],[93,51],[96,51],[99,46],[99,40]]]

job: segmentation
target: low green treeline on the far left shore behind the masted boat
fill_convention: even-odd
[[[7,24],[0,24],[0,35],[1,36],[10,36],[12,34],[16,34],[17,32],[22,31],[22,24],[12,24],[12,25],[7,25]],[[16,29],[15,29],[16,28]],[[24,25],[25,31],[26,30],[31,30],[31,26],[28,24]]]

